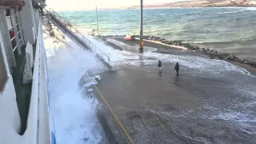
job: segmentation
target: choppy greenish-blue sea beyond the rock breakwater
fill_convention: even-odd
[[[256,8],[144,10],[144,34],[181,40],[256,60]],[[95,10],[60,12],[84,34],[97,29]],[[99,34],[139,34],[139,10],[98,10]]]

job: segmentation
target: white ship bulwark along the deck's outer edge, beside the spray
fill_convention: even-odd
[[[56,143],[51,106],[46,53],[42,38],[42,19],[39,18],[30,110],[25,132],[27,143]]]

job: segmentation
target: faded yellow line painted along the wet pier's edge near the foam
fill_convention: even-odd
[[[106,99],[104,98],[104,96],[102,95],[101,91],[98,90],[98,87],[95,86],[95,89],[98,91],[98,94],[102,97],[102,100],[106,103],[106,106],[109,108],[111,114],[114,116],[115,120],[118,122],[118,125],[121,126],[122,131],[126,134],[126,137],[129,139],[130,143],[134,144],[134,141],[130,138],[130,134],[128,134],[126,128],[124,126],[122,126],[122,122],[120,122],[120,120],[118,119],[117,115],[114,114],[114,111],[111,109],[110,105],[108,102],[106,102]]]

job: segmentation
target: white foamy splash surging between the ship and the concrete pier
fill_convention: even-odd
[[[96,116],[98,101],[87,98],[83,89],[94,83],[91,78],[79,86],[82,77],[106,68],[88,51],[66,36],[66,42],[46,38],[46,56],[54,109],[57,143],[100,143],[102,128]],[[53,43],[54,42],[54,43]],[[93,78],[94,79],[94,78]]]

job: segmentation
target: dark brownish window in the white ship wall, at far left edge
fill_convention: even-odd
[[[0,92],[4,89],[7,81],[6,64],[3,59],[2,47],[0,46]]]

